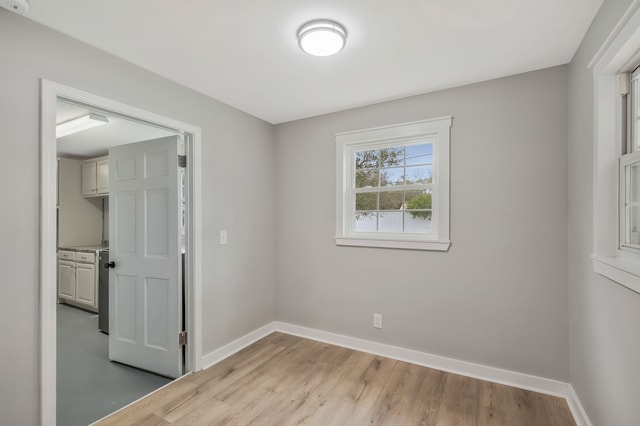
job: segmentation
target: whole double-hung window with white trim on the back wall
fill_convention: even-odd
[[[449,248],[451,120],[336,134],[336,244]]]

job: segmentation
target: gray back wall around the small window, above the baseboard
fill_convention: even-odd
[[[567,77],[563,66],[278,125],[278,319],[566,381]],[[333,134],[449,114],[449,252],[337,247]]]

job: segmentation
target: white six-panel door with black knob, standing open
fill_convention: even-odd
[[[182,375],[177,156],[176,136],[109,151],[109,358],[169,377]]]

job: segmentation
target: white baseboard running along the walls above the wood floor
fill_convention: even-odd
[[[424,367],[460,374],[462,376],[472,377],[475,379],[486,380],[489,382],[565,398],[576,424],[578,426],[592,426],[577,394],[569,383],[510,370],[503,370],[501,368],[474,364],[472,362],[460,361],[453,358],[419,352],[412,349],[405,349],[398,346],[386,345],[384,343],[372,342],[370,340],[358,339],[327,331],[301,327],[279,321],[274,321],[260,327],[259,329],[234,340],[220,349],[205,355],[202,359],[202,364],[204,368],[208,368],[274,331],[280,331],[282,333],[292,334],[306,339],[342,346],[344,348],[384,356],[386,358],[397,359],[399,361],[422,365]]]

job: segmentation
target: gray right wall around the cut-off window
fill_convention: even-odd
[[[570,66],[570,380],[594,425],[640,424],[640,295],[593,272],[593,77],[587,64],[630,0],[605,0]]]

